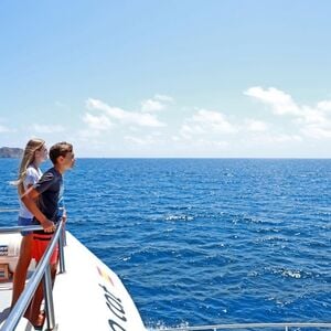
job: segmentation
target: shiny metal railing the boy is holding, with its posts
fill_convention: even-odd
[[[0,234],[8,233],[17,233],[22,231],[38,231],[42,229],[40,225],[32,226],[12,226],[12,227],[1,227]],[[64,222],[58,222],[56,226],[56,231],[50,241],[50,244],[38,264],[35,271],[32,274],[25,289],[21,293],[18,299],[14,308],[9,313],[3,325],[1,327],[1,331],[13,331],[24,312],[26,311],[30,301],[32,300],[36,288],[40,282],[43,280],[44,288],[44,300],[45,300],[45,313],[46,313],[46,322],[47,330],[53,330],[55,328],[55,314],[54,314],[54,303],[53,303],[53,291],[52,291],[52,279],[51,279],[51,267],[50,267],[50,258],[53,254],[53,250],[58,243],[58,256],[60,256],[60,274],[65,271],[64,264],[64,254],[63,254],[63,241],[64,241]]]

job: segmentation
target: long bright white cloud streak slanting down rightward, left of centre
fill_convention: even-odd
[[[137,111],[128,111],[118,107],[110,107],[102,100],[89,98],[86,102],[88,109],[103,110],[109,118],[117,120],[122,125],[137,125],[142,127],[163,127],[163,122],[159,121],[151,114],[142,114]]]

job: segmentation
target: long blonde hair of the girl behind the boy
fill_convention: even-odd
[[[20,195],[24,193],[24,179],[26,177],[26,169],[31,163],[34,162],[35,152],[40,150],[44,145],[45,141],[43,139],[33,138],[30,139],[25,146],[20,164],[19,178],[17,181],[12,182],[12,184],[18,186]]]

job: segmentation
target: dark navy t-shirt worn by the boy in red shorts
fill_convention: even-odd
[[[38,206],[41,212],[54,223],[61,218],[58,202],[63,200],[63,178],[62,174],[55,169],[49,169],[33,188],[40,193]],[[39,224],[39,221],[34,217]],[[36,233],[44,233],[39,231]]]

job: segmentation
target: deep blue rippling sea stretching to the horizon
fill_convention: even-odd
[[[2,225],[17,169],[0,160]],[[68,229],[148,327],[330,322],[331,160],[78,159],[65,183]]]

